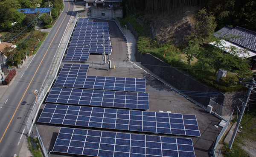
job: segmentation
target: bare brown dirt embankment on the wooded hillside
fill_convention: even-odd
[[[169,43],[180,46],[187,42],[187,36],[193,31],[197,7],[175,9],[168,14],[146,15],[153,25],[158,43]]]

